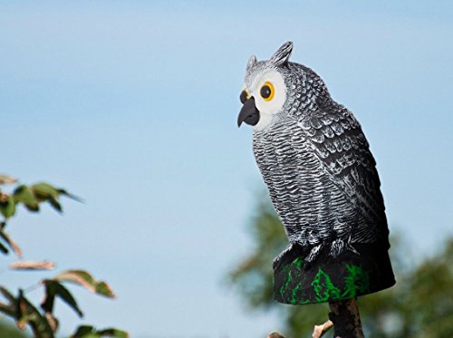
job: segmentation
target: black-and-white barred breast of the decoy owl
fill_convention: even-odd
[[[254,154],[290,243],[315,246],[347,239],[356,209],[333,184],[294,121],[255,132]]]

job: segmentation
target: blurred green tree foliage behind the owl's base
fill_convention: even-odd
[[[273,300],[272,261],[288,242],[270,202],[261,198],[249,224],[255,247],[228,275],[250,309],[276,309],[285,337],[308,337],[314,324],[327,320],[327,304],[294,306]],[[397,285],[359,299],[364,332],[371,338],[453,337],[453,238],[419,264],[401,259],[395,238],[390,250]]]

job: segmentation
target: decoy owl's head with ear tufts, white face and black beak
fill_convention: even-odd
[[[293,43],[287,42],[269,60],[257,61],[255,55],[250,56],[240,94],[239,127],[246,122],[254,130],[265,130],[275,121],[309,113],[330,98],[318,74],[289,62],[292,52]]]

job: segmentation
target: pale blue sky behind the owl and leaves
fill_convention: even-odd
[[[416,258],[451,234],[451,2],[279,4],[0,2],[1,170],[86,200],[64,217],[20,210],[9,228],[25,258],[111,283],[114,302],[72,288],[86,323],[142,338],[279,328],[223,280],[251,249],[263,188],[251,130],[236,127],[246,61],[288,40],[361,121],[390,231]],[[46,275],[2,271],[24,287]],[[57,311],[70,333],[78,319]]]

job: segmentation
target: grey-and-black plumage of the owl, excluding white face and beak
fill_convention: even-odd
[[[289,242],[309,247],[309,262],[323,249],[335,257],[359,254],[354,244],[388,247],[381,182],[361,125],[317,73],[288,61],[292,47],[268,61],[252,56],[245,79],[246,89],[269,70],[284,79],[284,104],[255,128],[253,150]]]

